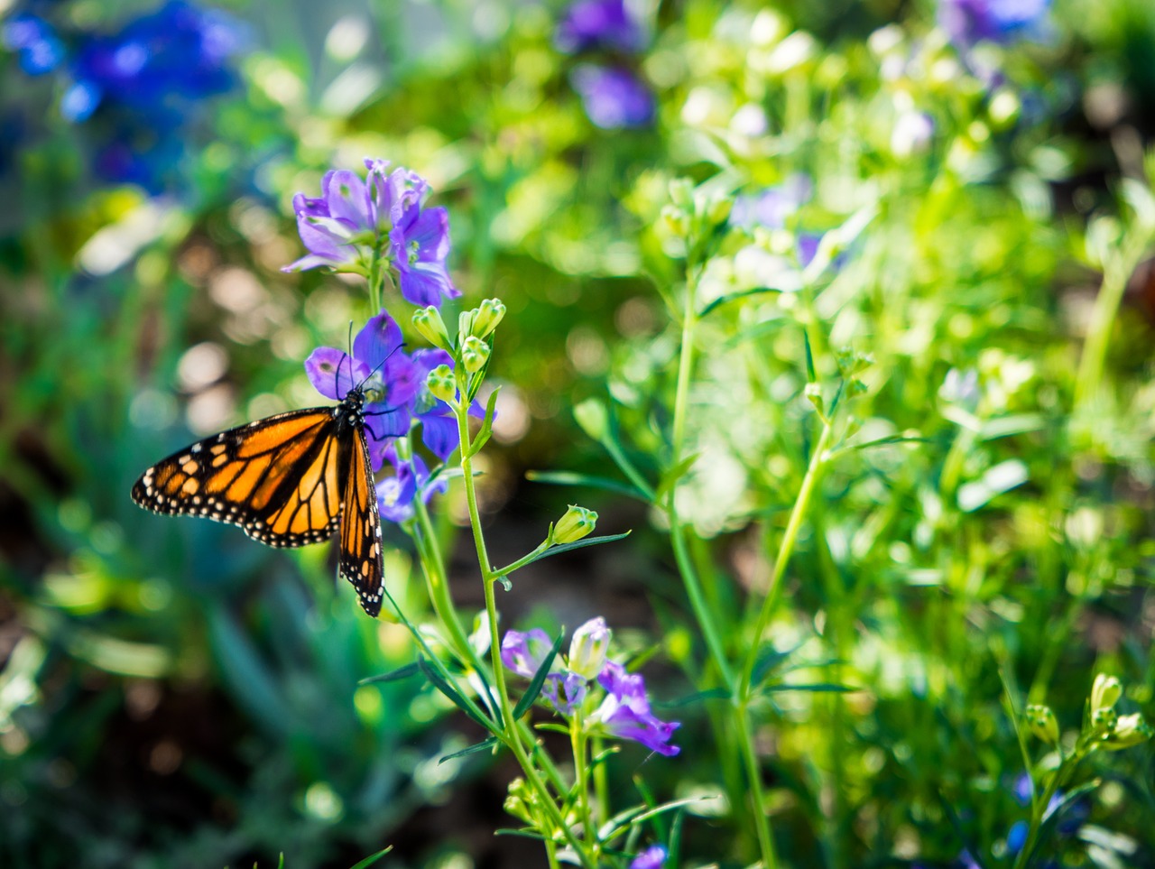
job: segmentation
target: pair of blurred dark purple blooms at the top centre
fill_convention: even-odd
[[[635,54],[647,35],[625,0],[579,0],[558,23],[554,44],[567,54],[612,51]],[[587,117],[602,129],[646,127],[654,121],[654,95],[621,60],[581,64],[571,75]]]

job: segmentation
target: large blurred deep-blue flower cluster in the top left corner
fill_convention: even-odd
[[[64,32],[31,14],[2,28],[29,75],[61,70],[60,113],[84,122],[92,171],[149,193],[172,186],[199,104],[233,87],[231,60],[246,42],[228,15],[170,0],[116,34]]]

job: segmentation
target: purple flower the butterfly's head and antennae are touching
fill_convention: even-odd
[[[355,386],[365,391],[365,436],[373,470],[385,461],[389,438],[409,431],[409,404],[419,382],[401,348],[401,327],[383,311],[353,339],[353,354],[319,347],[305,359],[310,382],[327,399],[342,401]]]

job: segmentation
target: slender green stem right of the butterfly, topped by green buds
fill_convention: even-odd
[[[463,376],[459,372],[459,388],[461,394],[464,395],[465,384],[461,382]],[[509,750],[513,751],[514,757],[517,758],[517,763],[521,766],[522,772],[526,774],[526,781],[528,781],[530,787],[537,792],[538,799],[542,801],[542,808],[553,823],[554,827],[566,838],[566,841],[574,849],[574,853],[581,861],[581,864],[583,867],[589,867],[589,869],[594,869],[594,861],[590,860],[584,848],[582,848],[581,841],[574,834],[574,831],[566,824],[565,818],[561,817],[561,812],[558,809],[557,803],[553,801],[553,797],[550,795],[549,788],[546,788],[545,782],[542,781],[541,773],[526,753],[526,748],[521,741],[521,729],[513,716],[513,704],[509,701],[509,691],[506,688],[505,681],[505,668],[501,663],[501,643],[500,636],[498,634],[498,608],[493,594],[497,574],[490,565],[489,551],[485,547],[485,537],[482,534],[482,517],[477,508],[477,487],[474,481],[474,467],[470,456],[472,443],[469,437],[468,402],[459,402],[454,409],[457,416],[457,434],[461,438],[461,470],[464,475],[465,503],[469,506],[469,525],[474,533],[474,545],[477,549],[477,562],[480,567],[482,586],[485,592],[485,614],[490,625],[490,659],[493,667],[493,684],[498,695],[498,705],[501,710],[501,719],[505,725],[504,742],[509,747]]]

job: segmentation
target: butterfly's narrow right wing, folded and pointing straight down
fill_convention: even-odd
[[[353,584],[360,604],[371,616],[381,611],[385,567],[381,559],[381,519],[377,510],[377,488],[368,459],[365,431],[353,428],[341,507],[341,550],[337,570]]]

